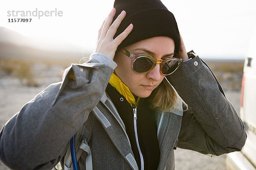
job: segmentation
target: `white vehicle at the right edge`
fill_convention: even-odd
[[[227,170],[256,170],[256,36],[244,62],[241,86],[240,117],[247,132],[246,143],[241,152],[227,155]]]

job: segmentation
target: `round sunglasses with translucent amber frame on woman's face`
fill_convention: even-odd
[[[137,74],[148,73],[157,63],[160,63],[161,74],[168,76],[175,72],[183,62],[183,59],[177,58],[179,57],[177,54],[166,59],[155,59],[154,57],[145,54],[131,54],[125,48],[122,48],[120,51],[131,58],[131,70]]]

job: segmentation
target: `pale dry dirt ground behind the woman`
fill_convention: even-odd
[[[48,76],[46,75],[46,77]],[[17,78],[12,76],[5,77],[0,72],[0,128],[50,82],[58,82],[60,80],[61,77],[52,77],[51,79],[44,79],[44,85],[28,87],[20,85]],[[226,96],[233,103],[236,111],[239,111],[240,92],[227,91]],[[175,170],[225,170],[225,157],[225,155],[209,157],[195,151],[178,148],[175,150]],[[9,168],[0,162],[0,170],[9,170]]]

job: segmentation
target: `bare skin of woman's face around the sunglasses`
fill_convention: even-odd
[[[131,54],[147,54],[156,59],[172,57],[167,54],[174,53],[175,43],[170,37],[153,37],[141,40],[125,47]],[[116,75],[130,89],[131,93],[139,97],[148,97],[157,88],[165,77],[160,73],[160,64],[145,74],[137,74],[131,70],[131,59],[122,52],[114,57],[117,64]]]

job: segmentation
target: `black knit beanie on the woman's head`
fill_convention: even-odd
[[[160,0],[115,0],[114,8],[116,8],[116,17],[126,11],[126,16],[116,34],[116,38],[131,23],[134,25],[133,30],[117,47],[117,52],[140,40],[152,37],[166,36],[171,37],[175,42],[175,53],[180,51],[180,34],[174,15]]]

